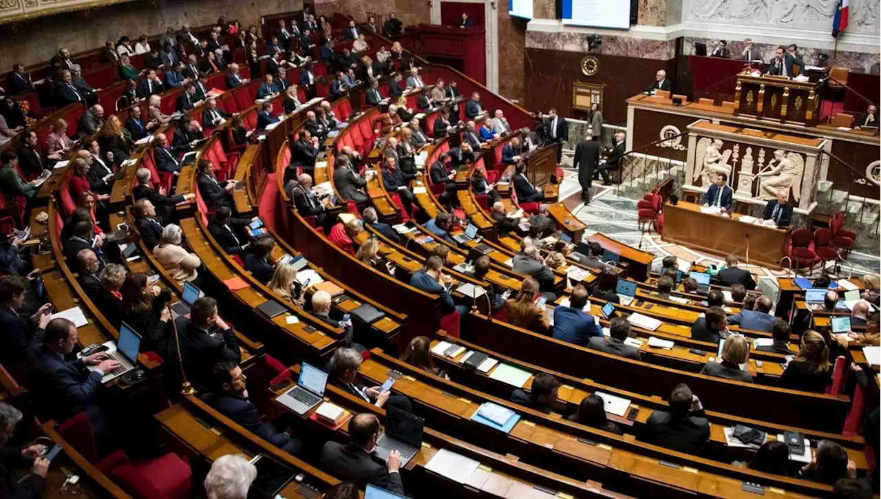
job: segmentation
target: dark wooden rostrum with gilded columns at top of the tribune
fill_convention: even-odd
[[[737,115],[814,126],[819,120],[825,82],[825,79],[796,81],[786,77],[741,73],[737,75],[734,92]]]

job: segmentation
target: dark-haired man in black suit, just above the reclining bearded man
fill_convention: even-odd
[[[168,341],[166,358],[178,361],[177,342],[180,342],[183,369],[196,390],[208,388],[211,370],[218,361],[241,362],[239,340],[233,328],[218,316],[218,302],[213,298],[205,296],[193,302],[189,318],[178,317],[174,325],[178,338]]]

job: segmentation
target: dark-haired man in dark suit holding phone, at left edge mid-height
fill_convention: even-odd
[[[0,278],[0,363],[5,367],[26,363],[43,342],[43,330],[51,318],[52,304],[41,306],[33,316],[19,310],[25,305],[30,283],[25,277],[11,274]]]

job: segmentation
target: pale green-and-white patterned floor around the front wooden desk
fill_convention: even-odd
[[[571,168],[572,152],[564,150],[562,167],[566,172],[566,176],[560,186],[560,199],[567,197],[581,197],[581,185],[578,183],[578,172]],[[679,266],[682,267],[686,263],[697,264],[723,264],[723,258],[715,255],[702,253],[695,249],[686,248],[678,244],[661,241],[661,237],[654,230],[641,232],[637,226],[636,201],[624,197],[616,197],[611,189],[607,189],[602,185],[594,182],[592,188],[589,205],[580,203],[574,205],[572,200],[566,205],[572,206],[572,212],[579,220],[587,224],[585,237],[601,233],[607,235],[618,242],[623,242],[634,248],[640,248],[655,255],[652,263],[652,269],[660,270],[661,260],[663,257],[672,255],[680,259]],[[852,265],[852,269],[848,266]],[[851,252],[848,257],[848,264],[841,265],[840,273],[835,274],[833,263],[826,265],[825,272],[832,274],[833,278],[849,275],[862,276],[867,272],[881,272],[881,257],[877,255],[869,255],[858,251]],[[686,265],[687,266],[687,265]],[[743,268],[749,269],[759,276],[759,288],[762,289],[766,296],[769,296],[776,302],[779,287],[776,278],[787,274],[786,271],[775,271],[755,264],[741,264]],[[799,274],[799,277],[816,277],[821,271],[816,269],[813,274]],[[789,272],[791,276],[792,273]]]

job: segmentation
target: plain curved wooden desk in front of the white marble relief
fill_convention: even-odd
[[[786,255],[788,231],[742,222],[743,215],[731,218],[700,212],[700,205],[680,201],[664,205],[662,241],[676,242],[722,257],[737,255],[746,262],[780,268]]]

